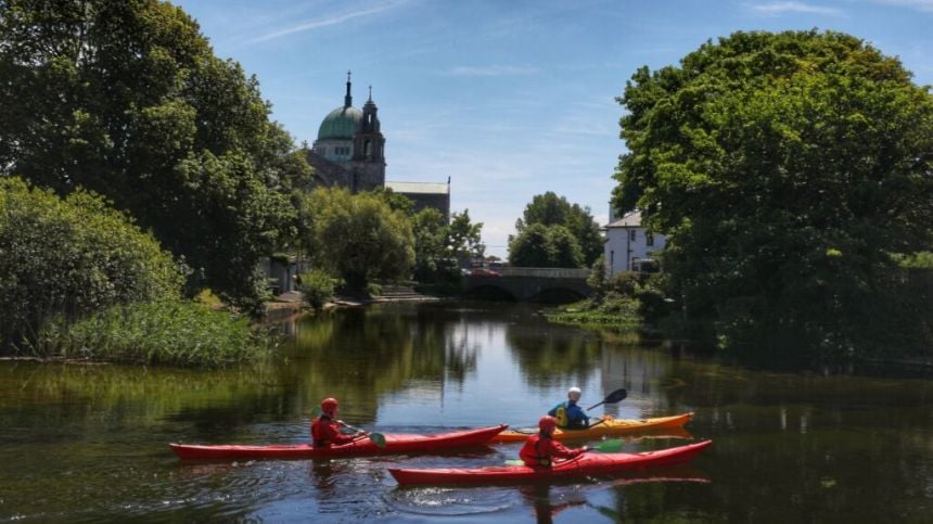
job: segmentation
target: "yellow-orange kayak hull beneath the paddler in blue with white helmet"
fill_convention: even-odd
[[[693,413],[676,414],[674,417],[657,417],[654,419],[614,419],[604,417],[601,422],[593,422],[586,430],[555,430],[554,439],[557,440],[575,440],[601,437],[604,435],[618,436],[629,435],[632,433],[654,433],[667,434],[672,436],[681,436],[683,424],[690,421]],[[521,430],[507,430],[494,436],[490,443],[516,443],[524,442],[529,435],[537,433],[537,427],[525,427]]]

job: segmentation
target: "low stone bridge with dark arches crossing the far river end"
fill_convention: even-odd
[[[468,295],[520,302],[567,303],[590,296],[589,269],[502,268],[499,276],[463,276],[460,286]]]

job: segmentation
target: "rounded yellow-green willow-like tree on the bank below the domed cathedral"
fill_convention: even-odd
[[[398,280],[414,263],[408,218],[379,195],[320,188],[309,195],[311,245],[317,265],[340,276],[349,291],[365,292],[373,279]]]

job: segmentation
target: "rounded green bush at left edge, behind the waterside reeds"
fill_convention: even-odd
[[[181,283],[171,256],[102,197],[0,178],[0,349],[53,316],[176,298]]]

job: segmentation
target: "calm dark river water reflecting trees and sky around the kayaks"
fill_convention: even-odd
[[[233,371],[0,362],[0,521],[933,522],[933,381],[756,372],[542,322],[527,307],[397,304],[306,318]],[[552,486],[399,488],[446,456],[179,462],[167,444],[301,443],[311,408],[387,433],[533,423],[584,389],[614,417],[695,412],[689,467]],[[629,439],[642,451],[683,438]]]

